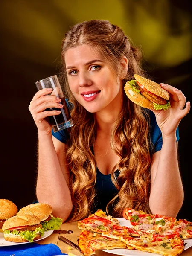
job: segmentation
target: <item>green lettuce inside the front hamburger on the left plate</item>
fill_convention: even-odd
[[[5,234],[13,234],[13,235],[18,235],[21,236],[23,239],[26,239],[30,243],[33,242],[33,239],[37,236],[37,233],[39,233],[41,236],[44,235],[44,229],[41,227],[36,228],[34,231],[18,231],[18,230],[5,230]]]

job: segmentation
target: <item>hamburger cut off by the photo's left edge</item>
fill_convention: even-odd
[[[17,206],[8,199],[0,199],[0,232],[3,232],[2,226],[4,222],[16,215]]]

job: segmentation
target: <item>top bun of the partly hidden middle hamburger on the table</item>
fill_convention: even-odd
[[[52,207],[49,204],[36,203],[23,207],[17,212],[17,215],[31,214],[40,218],[40,221],[44,221],[49,217],[51,213]]]

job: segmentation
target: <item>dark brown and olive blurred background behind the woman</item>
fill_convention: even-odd
[[[61,40],[70,26],[105,19],[145,53],[153,80],[182,90],[191,102],[192,12],[189,1],[1,0],[0,198],[18,209],[35,199],[37,129],[28,106],[35,81],[58,74]],[[2,92],[2,91],[1,91]],[[192,221],[191,111],[180,122],[179,159],[185,201],[179,218]],[[177,191],[175,191],[177,193]],[[171,202],[170,202],[171,204]]]

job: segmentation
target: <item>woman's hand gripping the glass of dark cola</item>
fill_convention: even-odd
[[[45,132],[46,134],[51,134],[52,127],[45,118],[47,116],[56,116],[61,113],[61,111],[49,111],[46,109],[63,107],[63,105],[60,104],[61,99],[53,95],[47,95],[51,92],[51,88],[39,90],[37,93],[35,93],[35,96],[29,105],[29,111],[32,114],[35,124],[37,125],[38,131]]]

